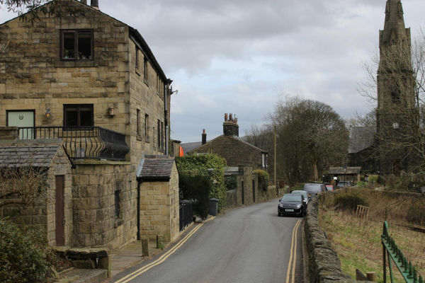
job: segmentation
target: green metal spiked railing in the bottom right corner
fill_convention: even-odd
[[[382,253],[384,263],[384,283],[387,282],[387,257],[388,267],[390,268],[390,279],[391,283],[394,282],[394,276],[392,275],[392,262],[401,273],[404,281],[407,283],[424,283],[424,279],[421,276],[417,276],[416,269],[412,266],[412,262],[408,262],[407,258],[404,257],[402,251],[395,244],[394,239],[388,234],[387,221],[384,222],[384,228],[381,236],[382,242]]]

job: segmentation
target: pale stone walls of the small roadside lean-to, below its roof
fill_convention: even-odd
[[[169,181],[143,182],[140,186],[140,236],[164,241],[179,236],[179,173],[176,163]]]

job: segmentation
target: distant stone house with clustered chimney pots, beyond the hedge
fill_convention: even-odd
[[[225,158],[227,166],[251,166],[254,170],[267,171],[267,151],[259,149],[239,138],[239,125],[233,119],[232,113],[225,114],[223,134],[207,142],[205,132],[202,136],[202,145],[188,151],[188,154],[217,154]]]

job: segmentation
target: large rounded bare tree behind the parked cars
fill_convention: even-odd
[[[278,129],[278,168],[289,183],[305,180],[311,172],[319,180],[324,168],[346,161],[348,130],[329,105],[286,96],[267,120]]]

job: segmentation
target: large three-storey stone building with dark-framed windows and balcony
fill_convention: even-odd
[[[0,44],[8,46],[0,127],[19,127],[18,139],[60,139],[75,166],[64,175],[73,225],[65,244],[115,249],[144,235],[137,207],[147,187],[137,183],[136,169],[145,155],[168,154],[172,81],[135,28],[97,1],[85,3],[62,0],[62,16],[0,25]],[[176,195],[176,178],[162,194]],[[161,205],[172,211],[179,204]]]

